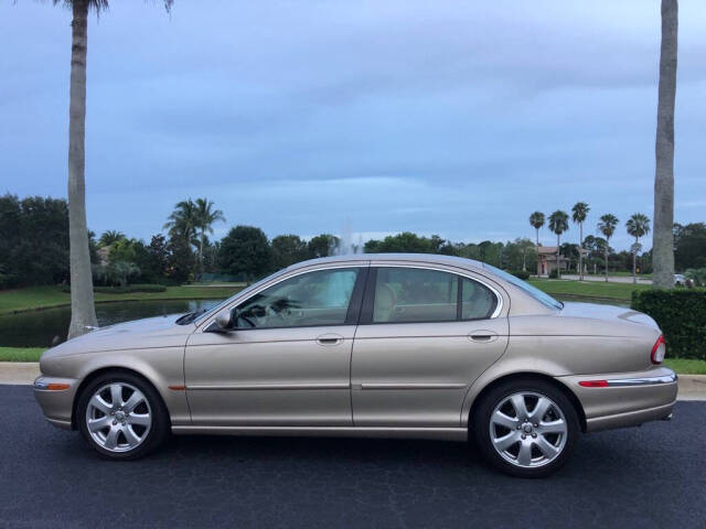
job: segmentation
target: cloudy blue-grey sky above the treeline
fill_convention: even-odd
[[[0,0],[0,193],[66,196],[69,24]],[[682,224],[706,222],[705,35],[681,0]],[[659,53],[659,0],[114,0],[88,26],[88,225],[149,240],[207,197],[215,237],[504,241],[584,201],[584,234],[612,213],[625,249],[652,217]]]

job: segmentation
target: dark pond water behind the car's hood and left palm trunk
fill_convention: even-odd
[[[98,325],[105,326],[142,317],[211,309],[220,302],[221,300],[149,300],[97,303],[96,316]],[[55,336],[61,342],[66,339],[69,322],[69,306],[1,315],[0,346],[50,347]]]

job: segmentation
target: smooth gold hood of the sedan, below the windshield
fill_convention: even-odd
[[[171,314],[100,327],[52,347],[42,359],[108,350],[183,347],[195,326],[176,324],[180,316]]]

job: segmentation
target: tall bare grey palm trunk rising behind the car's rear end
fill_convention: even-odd
[[[662,0],[662,47],[655,141],[654,287],[674,287],[674,100],[676,98],[677,0]]]

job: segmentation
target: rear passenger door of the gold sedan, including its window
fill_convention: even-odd
[[[507,346],[502,314],[499,288],[470,272],[371,268],[353,344],[354,424],[458,427],[470,385]]]

